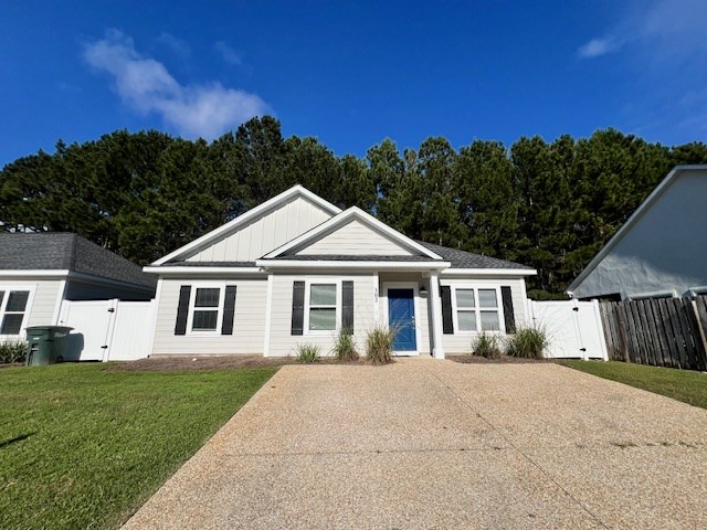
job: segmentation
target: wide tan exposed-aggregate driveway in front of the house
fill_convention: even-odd
[[[707,528],[706,442],[556,364],[288,365],[125,528]]]

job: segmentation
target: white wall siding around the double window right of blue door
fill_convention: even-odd
[[[514,317],[516,320],[516,328],[526,324],[526,300],[525,300],[525,279],[523,278],[509,278],[509,279],[482,279],[482,278],[440,278],[441,286],[460,287],[460,288],[497,288],[500,286],[510,287],[510,297],[513,299]],[[454,296],[454,289],[452,289],[452,296]],[[499,305],[502,300],[498,300]],[[502,322],[503,322],[503,316]],[[454,353],[469,353],[472,351],[472,340],[475,333],[471,331],[460,332],[454,329],[454,335],[442,335],[442,346],[445,354]]]

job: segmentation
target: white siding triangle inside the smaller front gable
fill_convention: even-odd
[[[376,255],[410,256],[412,252],[403,248],[383,234],[371,230],[358,220],[354,220],[335,232],[325,235],[297,252],[298,255]]]

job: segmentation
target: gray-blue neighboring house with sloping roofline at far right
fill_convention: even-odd
[[[707,166],[677,166],[567,288],[577,299],[707,294]]]

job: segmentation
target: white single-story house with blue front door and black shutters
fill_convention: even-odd
[[[471,350],[481,331],[527,320],[517,263],[422,243],[354,206],[295,186],[158,259],[154,356],[291,356],[331,351],[339,330],[359,349],[376,325],[401,356]]]

